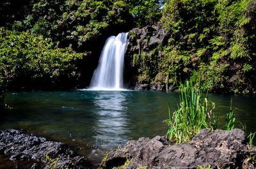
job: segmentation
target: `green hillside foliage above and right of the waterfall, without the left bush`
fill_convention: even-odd
[[[161,24],[169,31],[164,43],[150,50],[141,44],[132,54],[140,82],[173,85],[189,79],[209,92],[255,91],[253,0],[26,0],[19,9],[13,0],[0,4],[0,24],[92,53],[111,34]]]

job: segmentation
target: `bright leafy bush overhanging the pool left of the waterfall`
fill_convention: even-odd
[[[82,59],[84,54],[77,54],[71,48],[55,46],[51,39],[44,36],[8,31],[1,27],[1,80],[6,82],[6,85],[19,79],[23,82],[46,80],[53,84],[63,78],[76,80],[79,73],[74,63]]]

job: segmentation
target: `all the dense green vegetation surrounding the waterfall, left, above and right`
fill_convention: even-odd
[[[255,9],[253,0],[3,0],[0,80],[77,78],[77,59],[90,78],[108,36],[161,24],[168,42],[135,54],[138,82],[190,78],[205,91],[252,92]]]

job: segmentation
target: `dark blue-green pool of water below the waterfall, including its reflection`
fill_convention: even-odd
[[[237,119],[254,132],[255,96],[209,95],[219,117],[229,110],[231,98]],[[98,162],[105,151],[127,140],[164,135],[168,103],[173,112],[179,95],[150,91],[8,92],[6,103],[12,109],[1,115],[1,129],[23,129],[65,142]]]

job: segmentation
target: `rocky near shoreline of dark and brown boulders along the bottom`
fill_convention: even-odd
[[[246,169],[255,168],[251,159],[255,154],[255,147],[250,147],[241,129],[213,132],[203,129],[188,143],[173,144],[163,136],[131,140],[109,152],[99,168],[211,166]],[[86,158],[79,156],[65,143],[53,142],[15,129],[0,130],[0,156],[13,161],[16,164],[13,168],[93,168]],[[26,167],[22,166],[24,164]],[[3,166],[1,164],[0,168]]]

